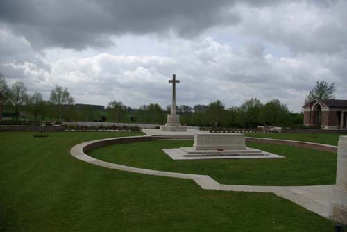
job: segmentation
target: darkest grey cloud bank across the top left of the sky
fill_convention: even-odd
[[[232,1],[0,1],[0,20],[34,47],[108,46],[109,35],[170,32],[192,36],[232,24]]]

